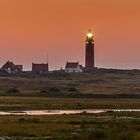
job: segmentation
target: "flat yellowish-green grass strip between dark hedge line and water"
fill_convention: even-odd
[[[0,96],[0,110],[140,109],[140,99],[83,99]]]

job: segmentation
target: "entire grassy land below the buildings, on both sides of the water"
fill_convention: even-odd
[[[0,111],[140,109],[140,71],[2,75]],[[139,112],[0,116],[0,140],[139,140]]]

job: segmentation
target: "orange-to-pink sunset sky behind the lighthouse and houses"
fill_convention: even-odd
[[[140,0],[0,0],[0,66],[84,66],[88,29],[97,67],[140,69]]]

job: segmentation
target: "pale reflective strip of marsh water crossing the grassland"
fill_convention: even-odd
[[[140,112],[140,109],[84,109],[84,110],[28,110],[0,111],[0,115],[62,115],[62,114],[98,114],[105,112]]]

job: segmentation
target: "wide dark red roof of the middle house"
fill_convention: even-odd
[[[48,63],[47,64],[32,63],[32,71],[48,71]]]

